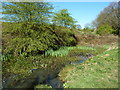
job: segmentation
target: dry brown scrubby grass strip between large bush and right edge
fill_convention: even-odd
[[[99,36],[96,34],[75,34],[78,45],[103,45],[118,42],[118,37],[114,35]]]

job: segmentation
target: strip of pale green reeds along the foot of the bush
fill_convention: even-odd
[[[109,45],[103,46],[73,46],[73,47],[61,47],[59,50],[48,50],[45,52],[45,56],[55,56],[55,57],[63,57],[63,56],[70,56],[73,54],[80,54],[82,53],[85,55],[86,53],[91,53],[93,55],[97,55],[103,53],[106,49],[109,48]]]

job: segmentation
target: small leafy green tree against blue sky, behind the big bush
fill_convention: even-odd
[[[75,28],[76,23],[76,21],[70,16],[67,9],[62,9],[58,13],[55,13],[52,21],[53,24],[68,28]]]

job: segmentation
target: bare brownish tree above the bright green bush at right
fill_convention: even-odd
[[[119,24],[119,14],[120,5],[117,2],[112,2],[108,7],[106,7],[96,18],[93,24],[99,28],[101,25],[108,24],[112,26],[115,31],[113,33],[119,34],[120,24]]]

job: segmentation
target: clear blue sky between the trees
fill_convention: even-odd
[[[55,11],[68,9],[71,16],[82,28],[91,23],[110,2],[51,2]]]

